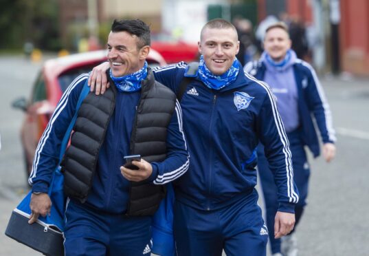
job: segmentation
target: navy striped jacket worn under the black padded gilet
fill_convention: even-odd
[[[52,171],[59,160],[60,143],[71,118],[88,74],[82,74],[69,85],[56,106],[52,118],[36,149],[30,184],[32,191],[47,193]],[[111,116],[107,134],[100,148],[97,171],[93,177],[87,204],[108,213],[124,213],[128,202],[129,182],[120,173],[124,156],[130,154],[129,143],[136,106],[141,91],[117,92],[115,110]],[[188,169],[188,151],[182,131],[181,107],[177,103],[168,125],[167,158],[152,162],[153,174],[149,178],[155,184],[165,184],[178,178]]]

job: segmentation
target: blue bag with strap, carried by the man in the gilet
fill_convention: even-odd
[[[89,93],[87,81],[82,89],[78,103],[76,105],[76,113],[69,123],[69,127],[65,132],[63,142],[60,147],[59,164],[65,153],[71,130],[76,122],[77,112],[82,104],[82,100]],[[28,224],[30,220],[30,202],[32,191],[30,191],[21,203],[12,211],[5,235],[15,239],[17,242],[30,246],[34,250],[45,255],[62,256],[64,255],[64,212],[65,198],[63,193],[63,174],[60,173],[60,166],[53,173],[52,182],[49,186],[49,197],[52,200],[50,215],[38,217],[34,224]]]

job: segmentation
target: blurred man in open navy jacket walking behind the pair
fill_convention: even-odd
[[[323,156],[330,162],[335,156],[335,131],[331,111],[317,80],[313,68],[297,58],[291,50],[291,40],[286,25],[275,23],[267,28],[264,40],[265,52],[259,61],[247,63],[245,72],[268,83],[277,98],[278,110],[289,138],[295,183],[300,192],[300,201],[295,207],[296,224],[300,221],[308,194],[310,167],[304,146],[308,146],[314,157],[320,154],[314,116],[323,141]],[[258,171],[267,210],[267,226],[273,230],[274,215],[278,209],[277,187],[269,170],[262,145],[258,147]],[[281,253],[280,239],[269,234],[273,254]],[[282,253],[297,255],[294,235],[283,237]]]

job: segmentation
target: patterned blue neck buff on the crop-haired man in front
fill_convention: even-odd
[[[212,74],[208,67],[206,67],[205,62],[203,61],[203,56],[201,55],[199,75],[201,81],[210,89],[222,89],[223,87],[230,85],[230,83],[236,80],[239,71],[240,67],[238,67],[237,58],[234,58],[232,66],[227,70],[227,72],[221,75]]]

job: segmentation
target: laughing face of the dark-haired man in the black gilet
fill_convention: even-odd
[[[113,76],[126,76],[144,67],[150,47],[138,49],[137,42],[137,36],[128,32],[110,32],[107,56]]]

